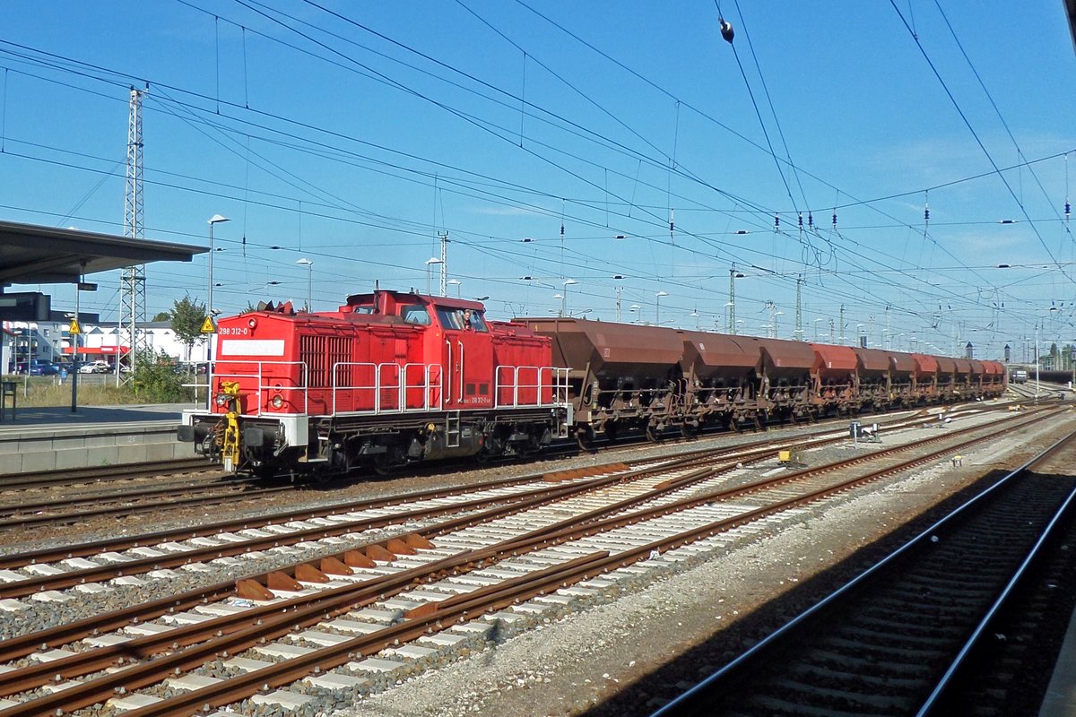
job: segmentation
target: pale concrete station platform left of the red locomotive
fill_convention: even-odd
[[[175,440],[189,403],[9,410],[0,422],[3,474],[190,458]],[[14,415],[13,415],[14,413]]]

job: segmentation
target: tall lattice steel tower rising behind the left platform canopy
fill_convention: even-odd
[[[131,98],[127,113],[127,191],[124,201],[124,235],[130,239],[144,239],[142,226],[142,96],[146,90],[131,87]],[[145,264],[129,267],[123,270],[119,282],[119,321],[117,325],[117,343],[127,340],[130,346],[128,360],[131,372],[119,373],[119,356],[116,356],[117,381],[122,376],[134,375],[136,357],[148,350],[150,345],[145,330],[139,331],[139,326],[145,324]]]

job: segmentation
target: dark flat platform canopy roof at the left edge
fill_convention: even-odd
[[[0,221],[0,287],[74,284],[83,274],[153,261],[190,261],[209,247]]]

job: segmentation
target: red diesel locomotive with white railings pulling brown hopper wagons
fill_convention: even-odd
[[[563,438],[569,406],[549,339],[481,303],[379,290],[335,312],[291,303],[223,318],[208,411],[181,441],[228,471],[384,472],[516,456]]]

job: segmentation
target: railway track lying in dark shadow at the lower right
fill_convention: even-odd
[[[1034,714],[1044,685],[1022,663],[1072,611],[1053,588],[1076,535],[1076,478],[1039,469],[1071,462],[1074,444],[982,490],[655,717]]]

